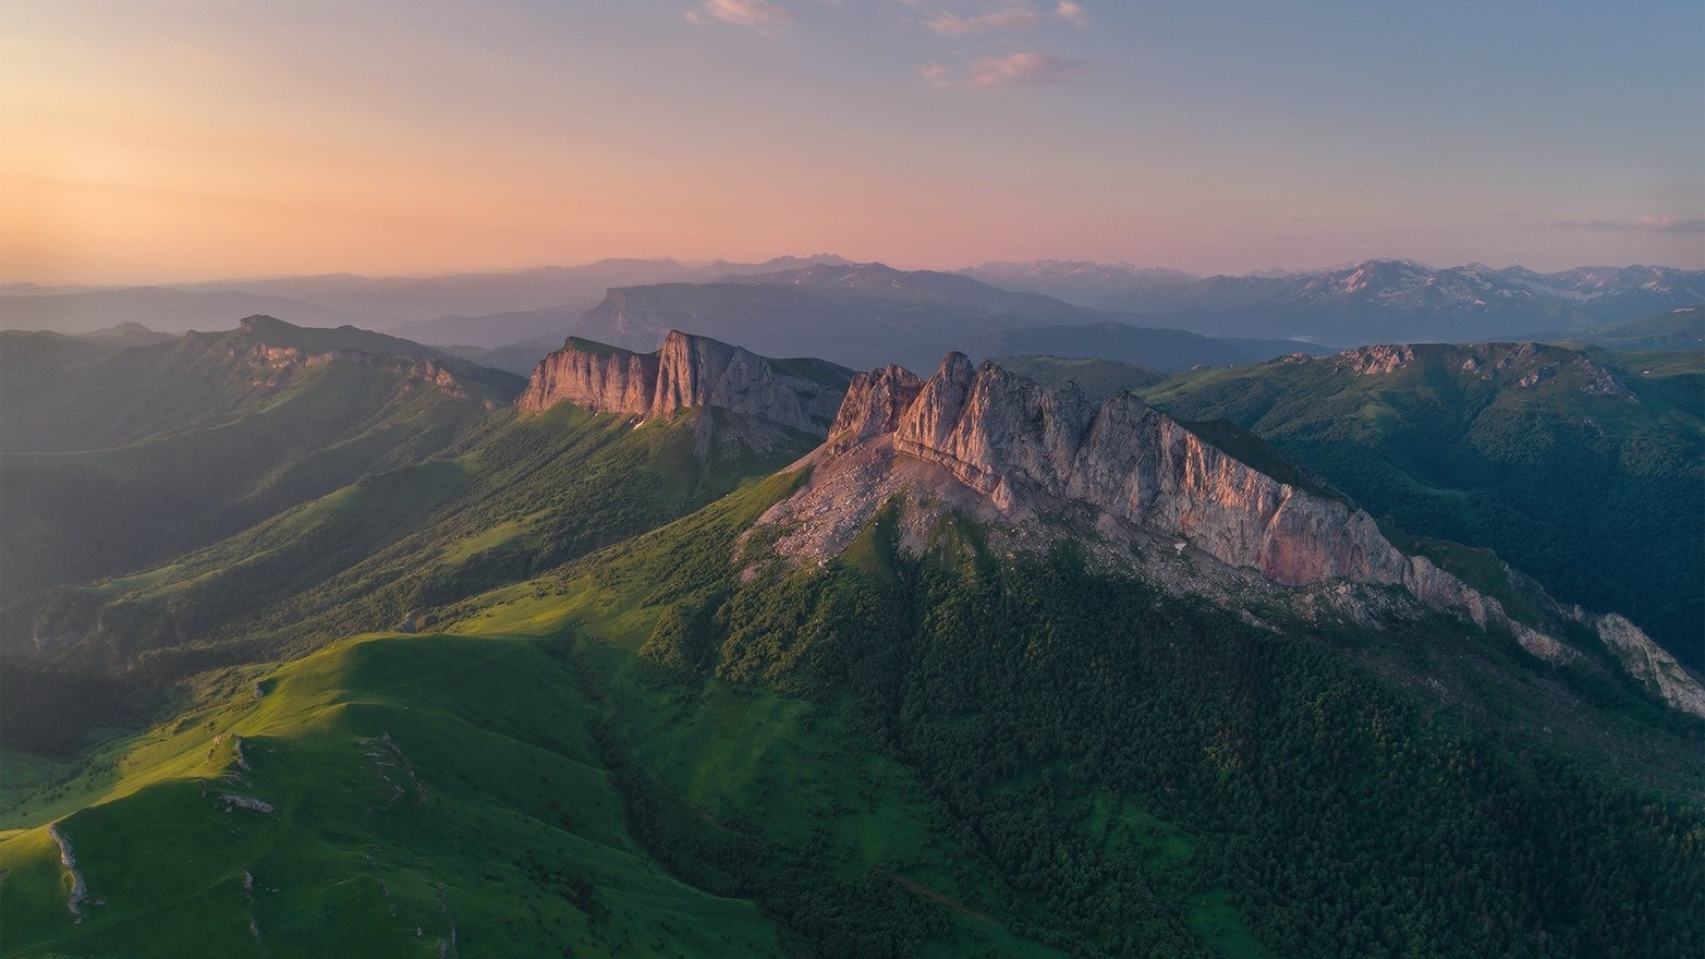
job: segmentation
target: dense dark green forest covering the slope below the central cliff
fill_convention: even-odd
[[[655,683],[692,684],[720,647],[720,677],[841,712],[1003,877],[991,910],[1020,916],[1025,939],[1207,954],[1204,911],[1219,904],[1279,956],[1705,947],[1705,807],[1686,770],[1705,730],[1632,689],[1517,677],[1529,667],[1512,643],[1459,621],[1275,635],[1098,575],[1071,549],[997,563],[967,541],[904,558],[871,539],[875,561],[665,614],[641,655]],[[1664,763],[1683,775],[1625,780],[1563,735],[1507,725],[1500,686],[1523,708],[1546,696],[1534,686],[1596,695],[1615,717],[1601,739],[1664,725]],[[1565,712],[1560,727],[1579,722]],[[759,865],[779,853],[726,843],[687,855],[769,877],[752,891],[818,954],[909,956],[929,928],[878,921],[892,901],[864,896],[849,940],[800,913],[808,877]],[[847,894],[818,889],[817,910]]]

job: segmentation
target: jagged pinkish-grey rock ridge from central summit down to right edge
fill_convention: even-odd
[[[1374,357],[1376,367],[1403,362]],[[1253,440],[1251,440],[1253,442]],[[1194,548],[1282,587],[1325,580],[1403,587],[1432,609],[1509,633],[1538,659],[1579,655],[1546,630],[1567,621],[1598,631],[1630,674],[1669,705],[1705,717],[1705,689],[1621,616],[1591,616],[1545,597],[1550,626],[1524,623],[1504,604],[1425,556],[1398,549],[1364,510],[1320,488],[1286,483],[1130,394],[1101,406],[1076,386],[1043,389],[992,363],[974,369],[950,353],[926,382],[899,367],[858,374],[829,433],[812,485],[834,488],[837,464],[871,488],[905,459],[934,464],[1001,515],[1076,502],[1147,534]],[[888,486],[892,488],[892,485]],[[859,498],[861,509],[870,497]],[[774,510],[827,515],[834,503]],[[810,520],[808,520],[810,522]],[[841,529],[849,524],[839,517]],[[801,541],[835,543],[835,536]],[[1541,594],[1543,596],[1543,594]],[[1657,650],[1661,654],[1661,650]]]

